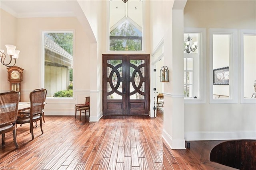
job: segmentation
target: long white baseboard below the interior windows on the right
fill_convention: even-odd
[[[256,131],[224,131],[184,133],[186,141],[256,139]]]

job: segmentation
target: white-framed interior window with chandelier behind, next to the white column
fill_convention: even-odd
[[[192,38],[191,44],[198,41],[193,52],[184,51],[184,104],[206,103],[206,29],[184,28],[184,42]]]

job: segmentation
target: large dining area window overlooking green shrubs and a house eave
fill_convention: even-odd
[[[73,98],[74,31],[42,31],[42,87],[47,98]]]

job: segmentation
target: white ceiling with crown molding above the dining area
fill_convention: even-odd
[[[75,16],[69,4],[60,0],[1,0],[0,7],[17,18]]]

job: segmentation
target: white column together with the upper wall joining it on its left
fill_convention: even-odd
[[[172,149],[185,148],[182,22],[185,4],[186,1],[180,0],[150,1],[151,50],[157,51],[158,44],[163,40],[164,65],[169,68],[170,74],[169,82],[163,85],[163,137]]]

